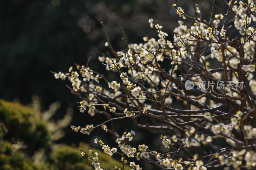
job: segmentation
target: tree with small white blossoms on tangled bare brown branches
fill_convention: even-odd
[[[224,13],[214,0],[210,2],[209,21],[198,17],[200,9],[193,1],[194,17],[173,4],[182,20],[191,21],[179,21],[173,30],[173,42],[164,28],[149,18],[159,39],[144,37],[144,43],[128,44],[124,37],[123,49],[116,52],[101,23],[107,37],[105,45],[111,53],[100,56],[99,61],[120,78],[109,82],[103,74],[78,64],[67,73],[54,73],[57,79],[71,81],[72,87],[68,88],[81,99],[81,112],[92,118],[95,114],[108,117],[98,125],[71,128],[90,135],[93,129],[102,127],[116,139],[116,144],[104,145],[97,138],[95,143],[106,154],[120,155],[123,165],[134,170],[141,169],[135,164],[136,159],[155,164],[158,169],[255,168],[256,81],[252,72],[256,59],[256,5],[252,0],[231,0]],[[230,29],[239,32],[240,37],[229,39]],[[164,62],[169,67],[163,68]],[[212,68],[216,66],[210,62],[217,63],[217,68]],[[104,83],[108,88],[103,88]],[[183,108],[176,108],[172,100],[183,101]],[[139,117],[154,121],[140,124]],[[170,147],[170,152],[152,151],[148,144],[131,146],[134,131],[122,130],[125,132],[120,134],[105,125],[120,119],[132,119],[135,127],[145,131],[165,131],[166,135],[159,134],[159,140],[164,147]],[[226,141],[224,147],[215,142],[221,138]],[[181,151],[186,153],[182,157]],[[90,153],[92,156],[87,156],[95,169],[104,169],[98,154]]]

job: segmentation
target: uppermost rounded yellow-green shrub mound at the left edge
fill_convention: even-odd
[[[19,103],[0,100],[0,137],[14,143],[22,141],[32,153],[47,148],[50,135],[39,113]]]

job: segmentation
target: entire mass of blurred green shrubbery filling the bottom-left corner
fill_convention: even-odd
[[[49,147],[49,141],[47,122],[40,119],[39,113],[19,103],[0,99],[0,170],[95,169],[91,164],[92,160],[88,160],[87,156],[83,157],[75,147],[64,144],[53,144]],[[13,144],[17,142],[21,143],[21,150],[12,149]],[[46,151],[46,160],[39,160],[40,165],[35,165],[30,156],[39,148]],[[120,161],[112,159],[101,150],[91,148],[88,144],[80,143],[77,148],[87,154],[89,150],[98,152],[100,165],[106,169],[114,169],[112,165],[123,166]]]

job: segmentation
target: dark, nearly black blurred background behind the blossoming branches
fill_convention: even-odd
[[[222,1],[215,2],[220,8],[225,8]],[[148,14],[155,23],[164,27],[163,31],[172,40],[172,30],[178,26],[177,21],[180,20],[176,9],[172,7],[174,3],[194,17],[194,9],[189,0],[1,1],[0,98],[9,101],[19,99],[20,103],[26,105],[31,102],[33,95],[37,95],[41,98],[42,111],[51,103],[60,100],[62,106],[54,119],[62,118],[67,107],[72,106],[72,125],[84,127],[86,124],[96,125],[103,122],[105,117],[90,117],[87,113],[80,113],[76,108],[78,98],[65,87],[65,84],[71,84],[68,81],[56,80],[50,71],[67,72],[74,63],[86,65],[88,58],[92,56],[89,67],[100,73],[106,72],[97,60],[98,56],[108,51],[104,46],[106,38],[100,21],[105,23],[116,51],[122,48],[121,26],[124,27],[128,43],[142,43],[144,36],[157,39],[157,32],[149,27]],[[208,21],[211,3],[208,0],[196,3],[202,12],[202,18]],[[217,10],[214,12],[219,13]],[[189,20],[186,22],[191,26]],[[141,123],[145,124],[147,121],[142,119]],[[121,132],[125,128],[128,131],[136,130],[131,125],[132,122],[125,119],[117,123],[116,128],[120,128]],[[92,132],[92,136],[87,136],[67,128],[67,135],[58,142],[77,145],[79,141],[85,141],[93,144],[92,140],[97,137],[97,133],[103,131],[99,129]],[[103,138],[104,134],[106,133],[103,133]],[[157,139],[159,135],[161,134],[158,132]],[[153,136],[150,137],[147,138],[146,133],[139,132],[137,140],[142,140],[142,144],[150,139],[155,147],[161,144],[161,140],[152,140]]]

